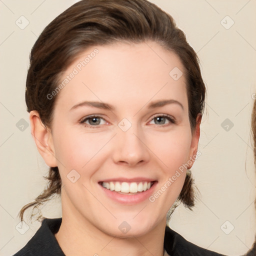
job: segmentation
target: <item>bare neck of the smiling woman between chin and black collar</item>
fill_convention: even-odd
[[[66,256],[163,256],[165,219],[145,234],[121,238],[103,232],[84,216],[71,212],[62,208],[62,222],[55,234]]]

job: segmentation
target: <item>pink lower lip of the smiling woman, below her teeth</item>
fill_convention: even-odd
[[[156,183],[157,181],[154,181],[149,189],[147,189],[146,191],[139,192],[137,194],[120,194],[114,190],[111,191],[107,188],[104,188],[100,184],[98,185],[101,187],[101,189],[103,189],[105,194],[112,200],[122,204],[136,204],[149,198],[149,196],[152,194],[154,190]]]

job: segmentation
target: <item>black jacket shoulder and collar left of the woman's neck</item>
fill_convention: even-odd
[[[45,218],[40,228],[27,244],[13,256],[64,256],[54,236],[61,224],[61,218]]]

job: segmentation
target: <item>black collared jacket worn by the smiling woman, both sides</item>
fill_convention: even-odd
[[[13,256],[64,256],[54,236],[60,227],[62,218],[45,218],[40,228],[27,244]],[[169,227],[165,227],[164,248],[171,256],[223,256],[199,247]]]

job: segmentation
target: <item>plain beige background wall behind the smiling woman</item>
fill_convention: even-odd
[[[193,211],[178,206],[169,224],[199,246],[240,255],[252,245],[255,234],[250,112],[256,92],[256,1],[152,2],[168,11],[186,33],[198,53],[208,91],[198,148],[201,156],[192,167],[201,195]],[[0,0],[0,255],[12,255],[40,226],[27,221],[28,230],[17,231],[19,209],[41,192],[47,172],[29,127],[19,129],[20,122],[28,122],[24,101],[28,55],[42,29],[72,3]],[[29,24],[21,29],[26,19]],[[60,217],[59,200],[48,202],[42,213]]]

